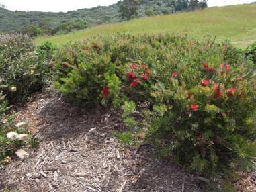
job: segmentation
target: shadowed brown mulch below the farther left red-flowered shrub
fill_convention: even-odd
[[[124,128],[120,115],[114,111],[103,107],[78,108],[56,97],[44,105],[39,115],[44,124],[39,134],[45,140],[70,140],[94,128],[104,134]]]

